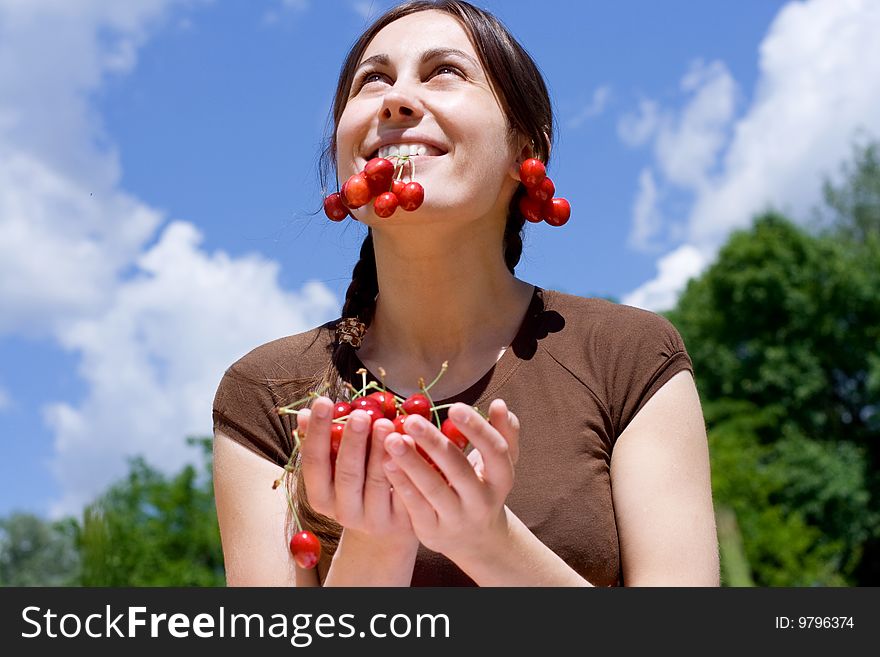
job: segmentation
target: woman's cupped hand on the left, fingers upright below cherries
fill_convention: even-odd
[[[330,461],[333,408],[330,399],[318,397],[311,409],[297,415],[309,504],[336,520],[346,532],[380,540],[386,546],[389,542],[418,544],[409,514],[398,496],[392,495],[382,467],[385,437],[394,431],[394,424],[381,418],[371,431],[367,412],[352,412],[342,434],[334,475]]]

